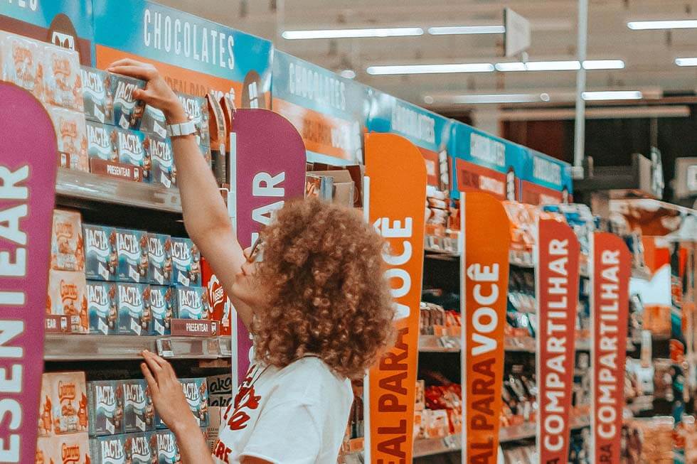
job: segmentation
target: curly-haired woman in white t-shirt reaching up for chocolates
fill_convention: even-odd
[[[161,109],[168,124],[186,122],[155,68],[119,60],[110,71],[147,80],[134,97]],[[393,338],[381,238],[355,210],[300,200],[284,205],[243,251],[194,137],[173,136],[172,146],[186,230],[255,345],[212,456],[171,365],[143,353],[154,406],[174,431],[183,463],[336,463],[353,401],[350,379],[362,377]]]

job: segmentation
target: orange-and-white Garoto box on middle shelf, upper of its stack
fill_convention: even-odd
[[[82,216],[78,211],[53,210],[50,267],[58,271],[83,271]]]

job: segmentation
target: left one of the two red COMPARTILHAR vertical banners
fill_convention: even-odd
[[[556,464],[569,455],[580,247],[555,220],[538,222],[537,243],[537,448],[540,463]]]

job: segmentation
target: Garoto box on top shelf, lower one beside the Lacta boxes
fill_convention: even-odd
[[[58,139],[58,161],[61,167],[90,171],[87,158],[87,126],[85,115],[61,107],[48,107]]]

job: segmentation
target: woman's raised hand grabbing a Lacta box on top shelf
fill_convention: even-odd
[[[179,98],[153,65],[124,58],[112,63],[107,71],[146,81],[145,89],[134,90],[133,97],[161,110],[169,124],[186,122]]]

